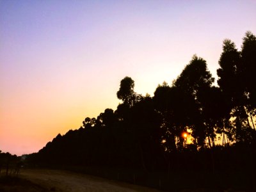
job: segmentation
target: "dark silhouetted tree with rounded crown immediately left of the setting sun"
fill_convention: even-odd
[[[168,152],[176,151],[182,147],[180,136],[189,124],[188,114],[193,99],[179,88],[170,87],[164,82],[156,88],[153,100],[156,110],[162,116],[161,132],[164,148]]]

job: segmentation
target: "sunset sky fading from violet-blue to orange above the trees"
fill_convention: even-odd
[[[116,109],[120,81],[154,95],[193,54],[216,76],[222,42],[256,34],[256,1],[0,0],[0,150],[38,152]]]

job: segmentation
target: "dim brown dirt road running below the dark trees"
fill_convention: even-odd
[[[158,191],[156,189],[101,179],[90,175],[66,172],[63,170],[22,170],[20,176],[24,179],[31,180],[31,182],[43,186],[50,191]]]

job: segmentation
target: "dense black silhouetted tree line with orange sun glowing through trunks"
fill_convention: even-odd
[[[248,168],[255,160],[255,35],[245,34],[241,51],[224,40],[219,65],[216,86],[206,61],[193,56],[172,85],[159,84],[153,97],[134,92],[132,78],[124,77],[115,111],[85,118],[29,161],[147,172]]]

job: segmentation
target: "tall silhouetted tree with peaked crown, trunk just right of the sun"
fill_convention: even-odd
[[[186,126],[193,130],[195,143],[200,146],[204,146],[206,136],[211,137],[214,144],[214,127],[203,118],[205,98],[202,97],[213,82],[214,78],[207,69],[206,61],[195,55],[174,83],[174,86],[182,91],[184,101],[189,100],[183,103],[187,109],[184,114],[187,115]]]

